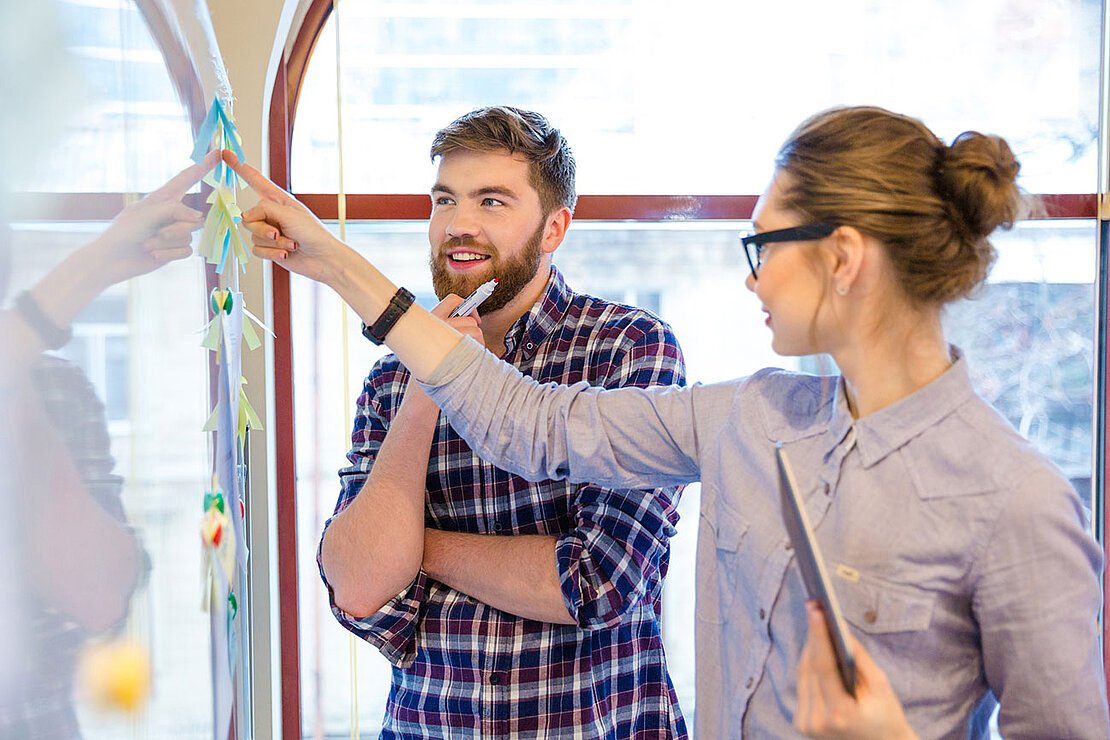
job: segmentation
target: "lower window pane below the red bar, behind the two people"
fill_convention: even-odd
[[[575,290],[639,300],[675,330],[687,377],[715,382],[797,358],[770,349],[759,304],[744,287],[748,267],[737,234],[747,223],[579,222],[555,263]],[[975,385],[1037,447],[1052,458],[1090,508],[1093,244],[1090,221],[1021,224],[995,243],[999,261],[980,295],[951,306],[949,341],[967,354]],[[347,240],[398,284],[432,301],[426,224],[347,225]],[[359,666],[359,721],[380,727],[389,663],[361,640],[349,639],[327,609],[315,548],[339,494],[350,414],[362,381],[384,352],[347,331],[349,374],[342,373],[340,302],[330,291],[293,276],[293,349],[297,419],[299,558],[302,600],[304,732],[350,729],[352,645]],[[803,361],[816,365],[811,358]],[[826,371],[834,369],[825,365]],[[344,392],[344,384],[346,391]],[[683,494],[678,535],[664,591],[664,638],[684,713],[693,717],[694,555],[699,486]]]

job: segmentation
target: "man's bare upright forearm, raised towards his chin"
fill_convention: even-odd
[[[405,588],[424,556],[424,496],[438,409],[415,385],[362,490],[324,533],[321,562],[335,604],[369,617]]]

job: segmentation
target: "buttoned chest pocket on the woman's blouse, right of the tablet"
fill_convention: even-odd
[[[840,569],[844,570],[841,566]],[[847,569],[830,574],[845,619],[865,632],[886,635],[929,629],[937,595]]]

